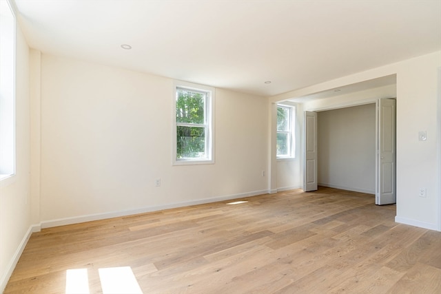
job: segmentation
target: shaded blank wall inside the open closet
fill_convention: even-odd
[[[376,105],[318,112],[318,184],[375,193]]]

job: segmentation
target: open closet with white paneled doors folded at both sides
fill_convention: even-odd
[[[305,191],[318,185],[396,203],[396,100],[305,112]],[[320,148],[318,148],[320,145]]]

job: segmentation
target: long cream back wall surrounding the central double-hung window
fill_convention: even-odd
[[[267,191],[267,99],[217,89],[215,163],[184,166],[173,100],[170,78],[42,54],[41,221]]]

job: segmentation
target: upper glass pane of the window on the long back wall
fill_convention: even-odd
[[[205,123],[205,98],[207,94],[185,89],[176,90],[176,122]]]

